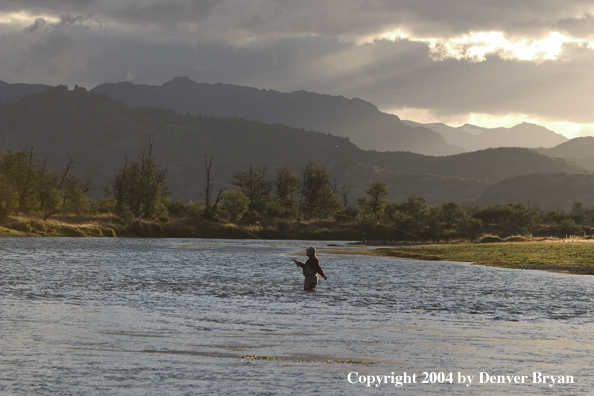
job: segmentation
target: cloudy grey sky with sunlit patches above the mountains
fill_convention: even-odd
[[[594,135],[591,0],[2,0],[0,80],[176,76]]]

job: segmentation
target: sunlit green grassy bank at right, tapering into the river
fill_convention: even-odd
[[[594,243],[587,239],[526,242],[448,243],[378,248],[364,254],[418,260],[460,261],[480,265],[594,274]]]

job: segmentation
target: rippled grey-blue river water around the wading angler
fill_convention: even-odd
[[[594,277],[330,244],[0,239],[0,394],[593,393]]]

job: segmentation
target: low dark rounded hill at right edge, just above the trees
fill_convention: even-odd
[[[594,175],[536,173],[513,177],[485,189],[477,203],[518,202],[543,210],[571,210],[574,202],[594,206]]]

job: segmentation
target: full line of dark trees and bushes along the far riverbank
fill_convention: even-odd
[[[0,156],[0,222],[19,214],[36,214],[47,220],[58,214],[111,213],[123,222],[188,217],[198,222],[277,228],[323,220],[341,226],[371,226],[376,237],[408,240],[473,238],[484,233],[593,233],[594,208],[579,202],[569,212],[521,203],[482,208],[456,202],[429,205],[414,194],[394,202],[388,199],[388,185],[381,179],[373,180],[363,197],[353,199],[348,184],[339,186],[323,163],[310,162],[298,173],[286,165],[271,171],[249,166],[227,183],[217,182],[214,165],[204,157],[201,200],[172,201],[168,198],[167,168],[156,160],[149,140],[136,159],[124,158],[106,186],[106,196],[93,200],[89,198],[92,178],[72,175],[74,161],[58,171],[37,161],[33,149],[7,151]],[[226,187],[217,190],[215,185]]]

